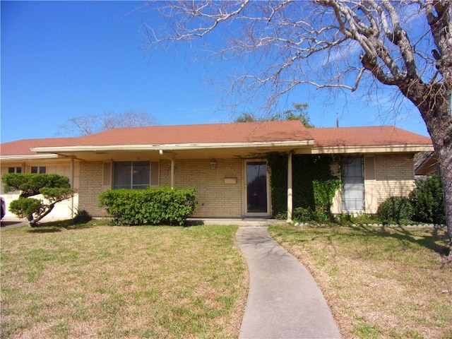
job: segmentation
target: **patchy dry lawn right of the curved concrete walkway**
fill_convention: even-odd
[[[311,271],[344,338],[452,338],[446,230],[270,226]]]

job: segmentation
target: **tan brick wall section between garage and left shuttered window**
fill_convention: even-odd
[[[80,163],[80,184],[78,185],[78,208],[87,210],[93,217],[105,216],[105,210],[98,207],[102,193],[102,162]]]

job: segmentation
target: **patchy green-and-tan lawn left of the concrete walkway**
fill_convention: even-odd
[[[1,338],[237,338],[234,226],[1,231]]]

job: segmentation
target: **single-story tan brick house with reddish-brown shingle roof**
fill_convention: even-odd
[[[1,174],[57,173],[69,177],[78,194],[52,212],[71,218],[85,209],[105,215],[98,196],[107,189],[194,187],[196,218],[270,217],[266,154],[338,155],[343,174],[333,213],[376,213],[389,196],[414,187],[415,153],[432,151],[425,136],[393,126],[307,129],[300,121],[263,121],[111,129],[77,138],[47,138],[1,144]],[[345,161],[346,160],[346,161]],[[293,172],[293,176],[303,173]],[[292,176],[289,176],[292,177]],[[253,182],[251,185],[250,183]],[[258,187],[257,187],[257,186]],[[292,216],[292,184],[287,210]],[[4,194],[6,201],[16,194]]]

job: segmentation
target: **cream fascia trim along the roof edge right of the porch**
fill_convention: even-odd
[[[313,147],[313,154],[343,153],[417,153],[433,151],[433,145],[379,145]]]

